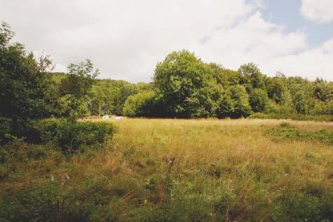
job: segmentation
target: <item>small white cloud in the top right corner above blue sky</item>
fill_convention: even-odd
[[[302,0],[301,14],[315,22],[333,21],[332,0]]]

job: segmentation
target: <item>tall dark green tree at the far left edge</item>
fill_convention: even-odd
[[[11,120],[11,134],[22,136],[29,120],[48,116],[46,71],[52,68],[48,56],[36,60],[20,43],[11,43],[13,32],[0,25],[0,117]],[[2,120],[1,120],[2,121]],[[0,137],[4,137],[1,133]]]

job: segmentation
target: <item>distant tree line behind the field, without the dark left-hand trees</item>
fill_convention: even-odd
[[[53,79],[67,76],[51,75]],[[61,89],[62,82],[55,82],[55,88]],[[282,73],[269,77],[253,63],[243,64],[234,71],[221,64],[205,63],[193,53],[180,50],[156,65],[151,83],[97,79],[81,106],[81,116],[246,118],[256,113],[285,118],[292,114],[329,116],[330,88],[332,83],[320,78],[309,81]]]

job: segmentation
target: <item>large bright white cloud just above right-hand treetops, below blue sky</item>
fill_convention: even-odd
[[[333,80],[333,39],[309,49],[304,33],[285,34],[282,28],[264,21],[259,12],[235,27],[215,32],[198,51],[205,60],[227,68],[254,62],[269,76],[281,71],[287,76]]]

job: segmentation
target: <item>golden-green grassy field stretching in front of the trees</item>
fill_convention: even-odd
[[[13,155],[0,182],[0,221],[20,210],[39,221],[333,220],[333,123],[110,122],[104,149],[72,158],[11,145],[27,160]]]

